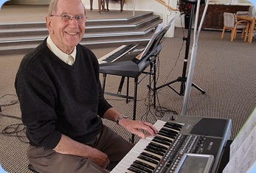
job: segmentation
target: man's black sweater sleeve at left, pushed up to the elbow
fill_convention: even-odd
[[[57,116],[54,91],[44,80],[35,77],[30,71],[18,71],[15,89],[30,144],[53,149],[59,143],[61,133],[55,130]]]

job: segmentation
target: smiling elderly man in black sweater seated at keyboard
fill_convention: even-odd
[[[105,172],[132,144],[103,125],[116,121],[131,133],[156,134],[152,124],[123,119],[105,100],[95,55],[79,44],[86,13],[80,0],[52,0],[49,37],[21,61],[15,89],[27,126],[27,156],[38,172]]]

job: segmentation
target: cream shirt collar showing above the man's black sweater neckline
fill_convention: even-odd
[[[77,47],[75,46],[73,52],[71,54],[66,54],[63,51],[61,51],[55,43],[53,43],[52,38],[50,35],[48,36],[46,40],[48,48],[58,57],[60,60],[62,60],[64,63],[68,64],[68,58],[69,55],[71,55],[74,58],[74,63],[75,63],[75,55],[77,54]]]

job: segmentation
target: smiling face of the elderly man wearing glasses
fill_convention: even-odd
[[[60,0],[56,12],[52,15],[72,15],[71,21],[65,21],[61,16],[46,17],[46,24],[52,41],[66,54],[70,54],[82,40],[85,32],[85,20],[77,23],[75,16],[85,18],[84,7],[79,0]]]

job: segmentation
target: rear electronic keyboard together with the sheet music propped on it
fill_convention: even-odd
[[[159,24],[147,45],[131,45],[131,49],[130,47],[126,49],[125,46],[119,48],[118,52],[100,58],[100,73],[123,77],[139,77],[145,71],[145,68],[150,66],[151,57],[156,57],[161,51],[162,39],[170,28],[173,19],[164,28],[162,27],[163,24]]]

